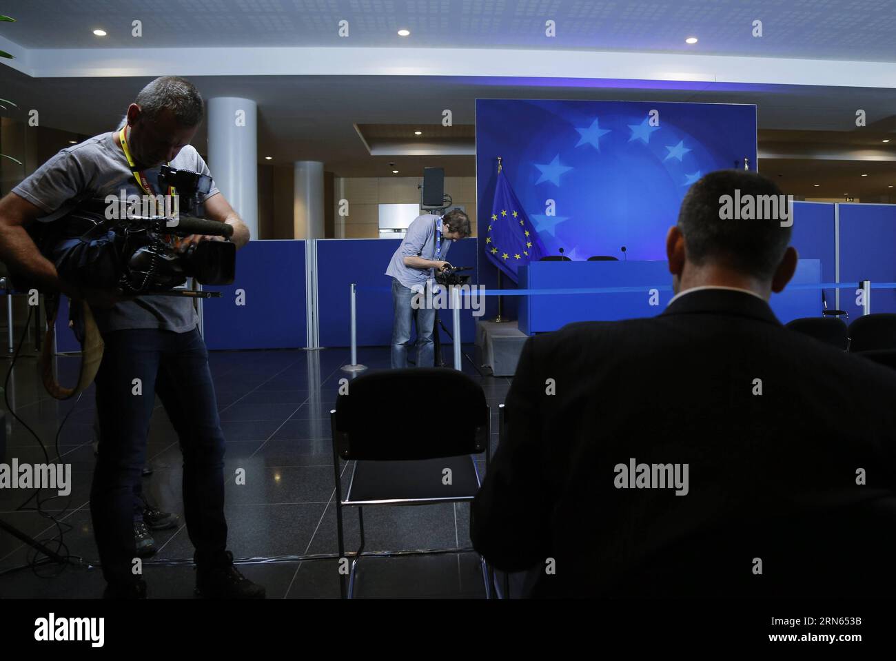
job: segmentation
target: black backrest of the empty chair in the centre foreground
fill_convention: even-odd
[[[478,454],[488,445],[482,387],[444,367],[362,374],[332,415],[341,459],[413,460]]]

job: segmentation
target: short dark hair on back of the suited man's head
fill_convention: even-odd
[[[752,218],[744,219],[735,205],[751,197]],[[691,187],[678,213],[687,262],[769,280],[790,243],[790,223],[781,226],[789,212],[780,188],[764,176],[746,170],[711,172]]]

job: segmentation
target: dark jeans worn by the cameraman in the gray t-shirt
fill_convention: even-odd
[[[90,514],[99,562],[109,583],[134,580],[134,494],[146,460],[155,394],[177,431],[184,455],[184,516],[198,554],[227,547],[224,519],[224,434],[198,329],[113,331],[97,373],[99,457]],[[134,379],[142,382],[135,395]]]

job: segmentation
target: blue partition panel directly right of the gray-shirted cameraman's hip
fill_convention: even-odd
[[[307,345],[304,241],[250,241],[237,252],[234,283],[203,288],[222,294],[202,303],[208,348]],[[246,305],[237,305],[237,289]]]

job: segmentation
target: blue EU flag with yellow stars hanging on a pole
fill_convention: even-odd
[[[538,232],[500,169],[485,246],[488,258],[513,282],[518,281],[516,270],[522,264],[538,262],[547,254]]]

